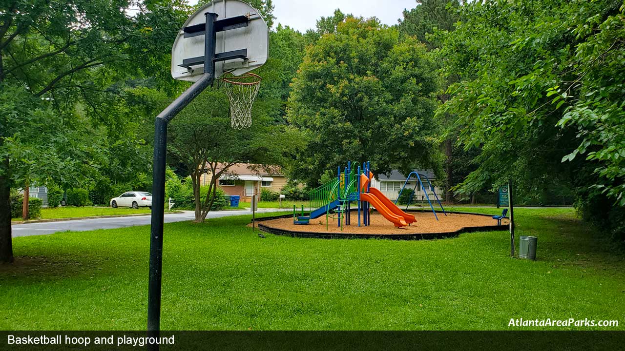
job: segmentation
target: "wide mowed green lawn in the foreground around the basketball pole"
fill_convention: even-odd
[[[625,329],[624,257],[571,209],[515,214],[517,235],[539,237],[536,262],[511,259],[505,231],[261,239],[249,216],[166,224],[161,327],[506,330],[522,317],[616,319]],[[149,227],[14,239],[16,264],[0,266],[0,329],[144,329],[148,247]]]

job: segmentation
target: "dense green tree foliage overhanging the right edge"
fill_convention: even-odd
[[[466,21],[441,49],[447,74],[462,81],[439,109],[456,116],[459,144],[481,149],[459,191],[557,179],[577,190],[589,217],[625,238],[625,36],[616,25],[624,7],[614,0],[463,6]]]

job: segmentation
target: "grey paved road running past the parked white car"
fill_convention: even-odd
[[[258,209],[256,213],[280,212],[288,209]],[[215,211],[209,212],[206,218],[227,217],[231,215],[250,214],[247,210],[236,211]],[[183,222],[192,220],[195,216],[193,211],[183,211],[179,214],[166,214],[165,223]],[[136,225],[149,225],[151,215],[141,215],[136,217],[116,217],[116,218],[99,218],[99,219],[81,219],[81,220],[65,220],[59,222],[31,223],[31,224],[14,224],[11,225],[13,237],[26,237],[29,235],[45,235],[56,232],[66,232],[68,230],[74,232],[84,232],[86,230],[96,229],[113,229],[123,227],[134,227]]]

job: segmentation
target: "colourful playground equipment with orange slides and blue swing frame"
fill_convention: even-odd
[[[356,164],[357,167],[354,167]],[[412,174],[416,174],[417,179],[421,182],[422,175],[412,172],[406,179],[406,183]],[[341,167],[338,167],[335,179],[311,190],[309,193],[310,212],[308,215],[304,214],[303,205],[301,212],[293,206],[293,224],[309,225],[312,219],[325,215],[326,230],[329,227],[329,219],[336,219],[337,227],[340,227],[342,230],[343,225],[351,225],[352,215],[357,213],[357,226],[366,227],[371,225],[371,206],[396,228],[407,227],[416,222],[414,215],[401,210],[395,202],[388,199],[380,190],[371,187],[372,177],[370,162],[365,162],[362,166],[359,162],[347,162],[347,167],[342,171]],[[427,182],[429,183],[429,179],[427,179]],[[406,187],[406,183],[404,183],[404,187]],[[429,184],[431,186],[431,183]],[[436,192],[434,192],[434,195],[436,196]],[[437,196],[436,199],[442,209],[442,204]],[[352,209],[352,205],[355,205],[355,209]],[[430,206],[438,220],[431,202]],[[447,214],[445,213],[445,215]]]

